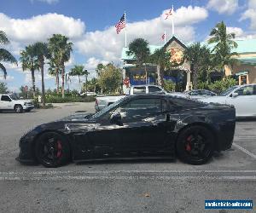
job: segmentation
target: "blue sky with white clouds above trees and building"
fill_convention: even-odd
[[[54,33],[69,37],[73,43],[71,59],[66,63],[69,72],[74,65],[84,65],[96,76],[98,63],[113,62],[121,66],[121,49],[125,46],[125,31],[115,32],[115,24],[126,12],[127,43],[143,37],[148,43],[161,45],[161,35],[172,37],[172,19],[166,12],[174,8],[175,36],[183,43],[205,42],[212,28],[221,20],[236,39],[256,38],[256,0],[1,0],[0,30],[6,32],[8,49],[17,60],[26,45],[47,39]],[[18,92],[21,85],[31,86],[31,72],[4,63],[7,79],[0,72],[0,82],[10,91]],[[36,85],[40,88],[40,73]],[[82,78],[84,81],[84,78]],[[71,89],[79,89],[77,77]],[[45,88],[55,88],[55,78],[45,69]]]

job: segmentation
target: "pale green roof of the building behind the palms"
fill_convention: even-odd
[[[170,41],[173,39],[173,37],[167,42],[170,43]],[[166,44],[167,44],[166,43]],[[236,49],[234,49],[234,51],[236,51],[236,53],[238,54],[250,54],[250,53],[255,53],[256,54],[256,39],[247,39],[247,40],[236,40],[236,43],[238,45],[238,47]],[[191,43],[184,43],[185,45],[189,45]],[[213,44],[210,44],[209,47],[211,48]],[[153,54],[155,49],[160,49],[162,48],[164,45],[148,45],[149,49],[150,49],[150,53]],[[121,55],[121,59],[122,60],[133,60],[133,56],[132,55],[127,55],[126,51],[128,51],[128,48],[123,48],[122,49],[122,55]],[[252,58],[255,60],[255,58]],[[240,60],[244,60],[244,59],[240,59]],[[253,60],[253,61],[254,61]],[[249,60],[250,61],[250,60]]]

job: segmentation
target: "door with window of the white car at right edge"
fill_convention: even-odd
[[[234,90],[233,95],[227,97],[226,103],[232,104],[236,108],[236,117],[256,116],[255,90],[255,86],[247,85]]]

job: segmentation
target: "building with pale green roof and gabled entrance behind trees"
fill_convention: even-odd
[[[236,58],[239,60],[239,64],[234,67],[226,66],[225,75],[238,78],[239,84],[256,83],[256,39],[238,40],[236,43],[238,48],[234,51],[238,54]],[[165,71],[164,78],[179,83],[182,89],[191,89],[190,64],[189,61],[183,61],[183,51],[186,49],[186,44],[182,43],[177,37],[172,37],[165,45],[149,45],[151,54],[160,48],[171,51],[172,57],[170,60],[177,65],[172,67],[171,70]],[[126,54],[128,50],[128,48],[123,48],[121,56],[124,61],[124,88],[128,85],[156,83],[156,66],[146,65],[148,71],[148,79],[146,80],[144,68],[135,66],[133,57]]]

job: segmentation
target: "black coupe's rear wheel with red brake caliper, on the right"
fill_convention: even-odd
[[[212,158],[214,136],[206,127],[195,125],[182,132],[177,137],[177,156],[188,164],[205,164]]]

